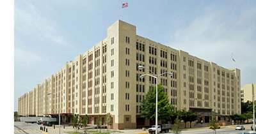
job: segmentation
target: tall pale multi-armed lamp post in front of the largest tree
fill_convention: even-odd
[[[138,69],[144,69],[145,68],[145,66],[138,66]],[[147,69],[147,70],[149,70],[148,68],[145,68],[145,69]],[[148,75],[148,76],[150,76],[150,77],[153,77],[153,78],[156,78],[156,134],[157,134],[157,112],[158,112],[158,110],[157,110],[157,83],[158,83],[158,80],[157,80],[157,77],[159,77],[159,76],[161,76],[161,75],[164,75],[164,74],[168,74],[168,75],[173,75],[173,73],[172,72],[164,72],[164,73],[161,73],[161,74],[159,74],[159,75],[156,75],[153,71],[151,71],[151,70],[149,70],[150,71],[150,73],[152,73],[153,75],[150,75],[150,74],[147,74],[147,73],[145,73],[145,74],[143,74],[143,75],[140,75],[140,78],[144,78],[145,77],[145,75]]]

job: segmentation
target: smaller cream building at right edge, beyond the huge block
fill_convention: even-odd
[[[255,95],[254,88],[256,84],[244,84],[244,86],[241,88],[242,94],[242,101],[253,101],[253,94]]]

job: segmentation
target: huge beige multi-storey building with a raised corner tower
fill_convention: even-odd
[[[114,129],[154,124],[140,117],[141,101],[152,77],[140,78],[148,70],[161,76],[161,83],[175,110],[193,110],[209,122],[211,112],[219,120],[241,114],[240,70],[228,70],[188,52],[175,50],[136,34],[136,27],[121,20],[108,27],[108,36],[90,50],[77,56],[60,71],[45,79],[19,98],[19,115],[58,115],[61,122],[72,122],[72,115],[87,114],[90,124],[110,113]],[[49,94],[51,93],[51,94]],[[59,101],[60,100],[60,101]]]

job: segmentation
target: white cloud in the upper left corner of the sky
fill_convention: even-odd
[[[54,44],[67,45],[65,38],[54,26],[54,20],[45,17],[32,3],[23,2],[15,3],[15,31],[47,38]]]

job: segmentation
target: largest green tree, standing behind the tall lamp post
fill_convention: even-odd
[[[157,113],[158,119],[161,121],[168,121],[173,114],[174,107],[169,103],[167,94],[164,92],[164,88],[161,85],[157,86]],[[141,117],[146,119],[156,118],[156,86],[150,86],[145,99],[141,103]]]

